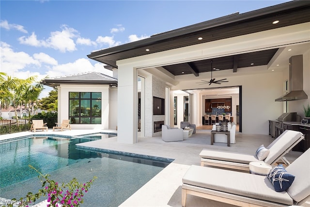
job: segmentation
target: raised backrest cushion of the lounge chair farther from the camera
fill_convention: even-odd
[[[266,148],[269,149],[269,154],[263,161],[267,164],[273,163],[279,156],[295,143],[302,133],[299,131],[285,130],[275,141]]]

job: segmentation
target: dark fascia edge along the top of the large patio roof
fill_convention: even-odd
[[[188,33],[199,32],[202,30],[215,28],[218,26],[227,25],[227,24],[238,22],[238,21],[249,20],[251,18],[257,18],[260,16],[278,13],[281,11],[290,10],[290,9],[294,9],[294,8],[302,7],[302,6],[307,6],[307,5],[308,6],[310,5],[309,0],[294,0],[294,1],[289,1],[289,2],[282,3],[282,4],[266,7],[263,9],[254,10],[254,11],[247,12],[244,14],[236,13],[236,14],[232,14],[232,15],[228,15],[228,16],[222,16],[222,17],[219,17],[216,19],[204,21],[204,22],[201,22],[198,24],[190,25],[190,26],[183,27],[183,28],[176,29],[176,30],[172,30],[169,32],[163,32],[163,33],[155,34],[149,38],[142,39],[139,41],[126,43],[124,45],[95,51],[95,52],[92,52],[91,54],[87,55],[87,57],[90,59],[96,59],[96,58],[106,56],[109,54],[114,54],[114,53],[130,50],[130,49],[134,49],[134,48],[139,48],[139,47],[145,47],[147,45],[154,44],[157,41],[162,41],[162,40],[169,39],[172,37],[175,38],[177,36],[185,35]],[[108,64],[108,63],[106,63],[106,64]]]

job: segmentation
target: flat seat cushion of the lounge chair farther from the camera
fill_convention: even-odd
[[[203,149],[199,154],[201,158],[224,160],[230,162],[249,164],[250,162],[259,161],[255,155],[235,153],[235,152],[223,152],[213,151],[209,149]]]

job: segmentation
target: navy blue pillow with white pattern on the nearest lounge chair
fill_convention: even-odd
[[[275,191],[286,191],[292,185],[295,176],[289,174],[282,164],[272,168],[267,175],[272,185],[275,187]]]

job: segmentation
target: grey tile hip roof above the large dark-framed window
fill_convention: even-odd
[[[99,72],[85,72],[73,75],[46,78],[42,84],[55,87],[62,83],[67,84],[100,84],[117,86],[117,79]]]

